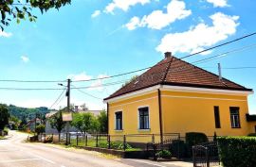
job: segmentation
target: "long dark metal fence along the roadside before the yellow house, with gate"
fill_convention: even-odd
[[[129,134],[129,135],[107,135],[107,134],[82,134],[82,133],[60,133],[40,134],[40,142],[60,142],[73,146],[99,147],[123,151],[146,151],[147,157],[156,159],[155,155],[160,150],[169,150],[172,157],[177,159],[193,159],[195,164],[207,164],[207,160],[218,162],[217,145],[213,144],[214,137],[208,137],[208,142],[192,147],[186,142],[185,137],[179,133],[163,134]],[[202,165],[201,165],[202,166]]]

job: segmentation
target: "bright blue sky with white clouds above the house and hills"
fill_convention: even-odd
[[[116,75],[154,65],[163,52],[178,58],[210,46],[228,42],[254,32],[256,2],[228,0],[72,0],[59,11],[51,9],[36,23],[17,25],[13,21],[0,32],[1,79],[64,80],[90,79]],[[229,44],[204,55],[185,60],[192,62],[229,50],[250,46],[222,58],[197,64],[256,90],[256,69],[225,69],[256,66],[255,37]],[[137,75],[137,74],[134,74]],[[73,83],[75,86],[101,86],[126,80],[125,75],[104,81]],[[0,83],[1,87],[60,88],[57,83]],[[104,98],[119,85],[83,90]],[[0,102],[23,107],[50,107],[62,91],[4,91]],[[256,96],[249,96],[249,111],[256,113]],[[86,103],[90,109],[104,104],[76,90],[71,103]],[[65,105],[65,99],[54,108]]]

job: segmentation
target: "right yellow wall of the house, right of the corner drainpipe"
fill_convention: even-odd
[[[221,128],[215,128],[214,106],[219,106]],[[229,107],[240,108],[241,128],[231,128]],[[240,136],[251,132],[246,120],[247,96],[192,92],[162,92],[164,133],[204,132]]]

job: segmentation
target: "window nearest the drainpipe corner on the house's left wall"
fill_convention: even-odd
[[[138,109],[139,129],[149,129],[149,108]]]

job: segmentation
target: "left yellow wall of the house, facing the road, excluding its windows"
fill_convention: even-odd
[[[149,107],[150,130],[138,130],[138,108]],[[122,131],[115,130],[115,112],[122,111]],[[157,92],[109,103],[109,134],[154,134],[159,133],[159,111]],[[115,138],[115,137],[113,137]],[[119,137],[116,137],[117,139]],[[157,138],[157,137],[156,137]],[[127,136],[127,142],[151,142],[152,136]]]

